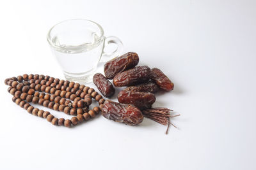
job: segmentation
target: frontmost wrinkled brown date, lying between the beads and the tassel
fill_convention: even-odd
[[[101,113],[105,118],[127,125],[138,125],[143,121],[141,111],[131,104],[120,104],[106,100]]]

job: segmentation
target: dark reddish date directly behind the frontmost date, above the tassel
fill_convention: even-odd
[[[151,108],[152,104],[156,101],[156,97],[152,93],[125,90],[119,92],[117,99],[120,103],[133,104],[140,110]]]

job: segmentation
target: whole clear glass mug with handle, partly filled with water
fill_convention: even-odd
[[[65,20],[54,25],[47,34],[47,41],[65,78],[80,83],[92,81],[100,60],[110,60],[123,51],[120,39],[105,37],[99,24],[84,19]],[[104,52],[108,44],[116,44],[116,49]]]

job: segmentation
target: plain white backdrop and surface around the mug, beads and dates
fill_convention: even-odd
[[[256,169],[255,8],[253,0],[1,1],[0,169]],[[131,127],[102,116],[54,127],[12,102],[5,78],[63,78],[46,34],[71,18],[98,22],[140,65],[170,77],[175,90],[157,94],[154,107],[180,113],[179,129],[165,135],[147,118]]]

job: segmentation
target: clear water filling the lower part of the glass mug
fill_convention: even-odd
[[[93,36],[92,34],[90,43],[83,43],[82,45],[61,45],[58,37],[52,39],[55,45],[63,47],[61,50],[54,49],[54,54],[66,78],[67,76],[82,76],[82,79],[83,76],[87,76],[86,74],[96,69],[102,55],[104,39],[99,39],[97,34],[93,34]]]

